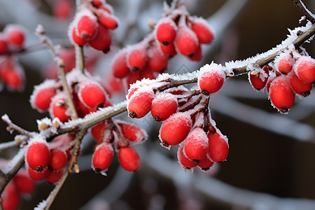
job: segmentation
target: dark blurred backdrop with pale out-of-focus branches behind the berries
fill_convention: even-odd
[[[65,0],[64,0],[65,1]],[[121,46],[141,41],[151,32],[148,22],[162,16],[163,1],[107,1],[121,23],[113,31],[113,48],[109,54],[97,55],[94,73],[106,78],[111,58]],[[186,73],[211,63],[224,64],[265,52],[281,43],[288,29],[302,26],[298,10],[289,0],[186,0],[192,15],[206,18],[215,31],[215,41],[204,46],[204,59],[189,62],[176,55],[169,62],[167,72]],[[73,18],[57,18],[56,1],[14,0],[0,1],[0,27],[17,23],[27,31],[26,45],[39,43],[34,35],[38,23],[48,31],[55,43],[65,47],[67,26]],[[74,2],[73,6],[74,6]],[[168,1],[169,3],[169,1]],[[304,0],[315,13],[315,1]],[[19,5],[19,6],[18,6]],[[315,42],[303,46],[315,55]],[[86,57],[98,52],[91,51]],[[0,114],[25,130],[36,131],[36,119],[48,116],[31,109],[29,96],[34,85],[47,76],[52,59],[42,48],[18,55],[25,69],[23,92],[0,92]],[[123,101],[116,94],[114,102]],[[296,99],[288,115],[281,115],[270,106],[266,92],[257,92],[246,75],[230,78],[223,90],[211,98],[210,109],[217,127],[229,139],[228,161],[211,167],[207,173],[195,169],[192,173],[181,169],[176,160],[176,148],[171,151],[160,146],[160,123],[152,118],[130,120],[122,113],[117,118],[143,126],[149,139],[136,146],[141,157],[139,172],[125,172],[116,156],[107,176],[95,174],[90,158],[95,141],[86,137],[79,158],[81,172],[71,174],[51,209],[315,209],[315,99]],[[0,123],[0,141],[12,141]],[[18,148],[1,151],[10,159]],[[44,200],[53,185],[36,183],[35,192],[23,198],[20,209],[33,209]]]

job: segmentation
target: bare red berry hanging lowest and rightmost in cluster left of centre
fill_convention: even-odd
[[[128,172],[138,171],[141,165],[140,157],[132,146],[121,147],[118,151],[118,160]]]

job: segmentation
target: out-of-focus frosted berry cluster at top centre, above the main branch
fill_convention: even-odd
[[[120,50],[111,70],[117,78],[127,78],[130,85],[142,78],[156,78],[167,69],[169,59],[178,52],[193,61],[202,58],[202,44],[211,43],[214,34],[203,18],[189,15],[183,5],[165,10],[151,34],[140,43]]]

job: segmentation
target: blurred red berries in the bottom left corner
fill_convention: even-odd
[[[20,206],[22,195],[33,193],[35,183],[29,178],[25,169],[20,169],[13,179],[8,183],[1,195],[2,208],[4,210],[15,210]]]

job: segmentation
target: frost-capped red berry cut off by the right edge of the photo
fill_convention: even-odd
[[[294,71],[304,83],[313,83],[315,81],[315,59],[303,55],[297,59]]]

